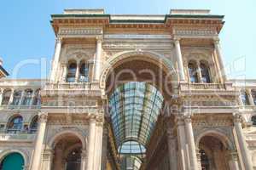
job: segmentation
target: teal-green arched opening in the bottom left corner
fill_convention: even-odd
[[[20,153],[14,152],[3,158],[1,161],[0,170],[23,170],[24,158]]]

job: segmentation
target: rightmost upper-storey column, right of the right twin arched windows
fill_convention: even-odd
[[[216,38],[216,39],[213,39],[214,41],[214,48],[216,50],[216,53],[217,53],[217,60],[218,60],[218,64],[219,64],[219,69],[220,69],[220,72],[221,72],[221,79],[223,80],[223,82],[225,82],[227,79],[226,79],[226,73],[225,73],[225,70],[224,70],[224,62],[223,62],[223,56],[221,54],[221,48],[220,48],[220,45],[219,45],[219,39]]]

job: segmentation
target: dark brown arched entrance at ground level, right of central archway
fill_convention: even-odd
[[[228,148],[214,136],[204,136],[199,143],[202,170],[226,170],[229,167]]]

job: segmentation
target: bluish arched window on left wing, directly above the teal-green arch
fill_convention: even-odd
[[[7,126],[7,133],[20,133],[23,126],[22,116],[13,117]]]

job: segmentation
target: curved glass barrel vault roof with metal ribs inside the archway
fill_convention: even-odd
[[[162,103],[160,92],[146,82],[126,82],[116,88],[109,107],[118,147],[131,140],[146,145]]]

